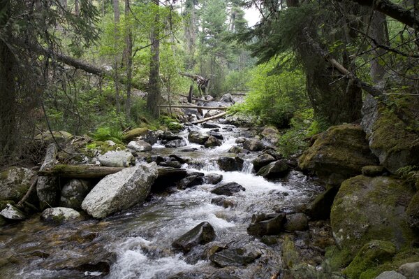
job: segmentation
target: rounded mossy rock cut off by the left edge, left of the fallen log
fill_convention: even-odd
[[[0,173],[0,200],[20,201],[31,187],[36,173],[19,166],[10,166]]]

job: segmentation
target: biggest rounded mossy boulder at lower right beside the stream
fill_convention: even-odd
[[[415,235],[405,209],[413,196],[402,180],[355,176],[341,184],[330,213],[339,248],[354,257],[372,240],[390,241],[397,249],[413,243]]]

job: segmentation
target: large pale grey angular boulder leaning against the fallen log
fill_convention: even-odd
[[[105,176],[84,198],[82,209],[101,219],[130,208],[145,201],[157,176],[159,172],[154,162],[138,164]]]

